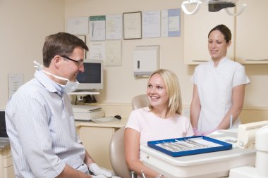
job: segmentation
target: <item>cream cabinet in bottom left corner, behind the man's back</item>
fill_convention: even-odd
[[[3,178],[15,177],[11,157],[11,148],[9,146],[0,149],[0,177]]]

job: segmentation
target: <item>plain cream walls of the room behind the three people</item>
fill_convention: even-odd
[[[181,8],[181,0],[0,0],[0,108],[8,101],[8,73],[33,77],[33,60],[42,63],[44,37],[65,30],[66,18],[131,11]],[[145,93],[147,79],[133,77],[132,53],[137,45],[160,45],[160,67],[178,75],[183,104],[190,105],[194,65],[183,64],[183,13],[181,37],[122,40],[122,66],[105,68],[105,89],[99,103],[127,103]],[[219,22],[220,23],[220,22]],[[207,34],[205,34],[207,35]],[[252,42],[252,45],[255,45]],[[257,44],[256,44],[257,45]],[[194,52],[194,50],[193,50]],[[268,108],[268,65],[245,65],[251,84],[246,87],[245,108]]]

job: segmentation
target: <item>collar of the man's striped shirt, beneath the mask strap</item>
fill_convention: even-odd
[[[42,72],[42,70],[35,71],[35,78],[50,92],[57,92],[59,95],[62,93],[62,89],[59,84],[56,84],[53,80],[51,80],[47,75]]]

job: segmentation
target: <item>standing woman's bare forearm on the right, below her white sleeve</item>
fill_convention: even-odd
[[[221,120],[221,123],[218,125],[217,129],[229,129],[231,115],[233,115],[233,122],[236,121],[238,115],[241,113],[243,109],[244,96],[245,96],[245,84],[233,87],[232,91],[233,105],[231,106],[228,113],[226,113],[223,120]]]

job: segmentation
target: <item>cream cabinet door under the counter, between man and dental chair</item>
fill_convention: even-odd
[[[109,127],[80,127],[78,133],[90,156],[106,169],[112,170],[109,157],[109,145],[115,129]]]

